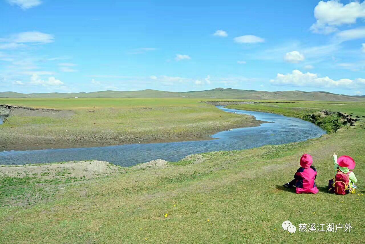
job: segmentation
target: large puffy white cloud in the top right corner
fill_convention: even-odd
[[[354,24],[357,19],[365,18],[365,1],[351,1],[346,5],[337,0],[320,1],[314,8],[314,16],[317,22],[311,31],[329,34],[338,30],[336,26]]]

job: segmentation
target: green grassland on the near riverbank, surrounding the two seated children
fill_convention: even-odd
[[[232,106],[296,117],[321,109],[365,116],[364,104]],[[68,183],[47,201],[27,208],[1,207],[0,242],[363,243],[363,122],[306,142],[211,152],[164,169],[128,169],[112,177]],[[328,193],[333,151],[356,160],[356,194]],[[314,158],[319,194],[295,194],[281,186],[293,178],[303,153]],[[23,186],[6,187],[15,191]],[[285,220],[297,226],[296,233],[282,231]],[[353,229],[299,232],[300,223],[351,223]]]

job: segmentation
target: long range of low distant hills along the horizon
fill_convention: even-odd
[[[215,88],[191,92],[165,92],[160,90],[139,90],[130,92],[101,91],[101,92],[78,92],[78,93],[17,93],[0,92],[1,98],[168,98],[168,97],[191,97],[191,98],[219,98],[219,99],[266,99],[266,100],[302,100],[302,101],[365,101],[365,96],[339,95],[330,92],[303,92],[284,91],[266,92],[256,90],[239,90],[232,88]]]

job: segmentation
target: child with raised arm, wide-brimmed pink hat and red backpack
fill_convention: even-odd
[[[337,155],[333,153],[333,161],[336,173],[333,180],[330,180],[328,189],[339,195],[355,193],[354,183],[357,182],[357,179],[354,172],[351,171],[355,168],[355,160],[346,155],[337,159]]]

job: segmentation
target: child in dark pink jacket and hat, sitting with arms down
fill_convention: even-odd
[[[284,187],[291,188],[295,186],[296,193],[318,193],[314,180],[317,177],[317,170],[312,166],[313,159],[309,154],[303,154],[300,158],[300,168],[296,171],[294,179],[284,184]]]

